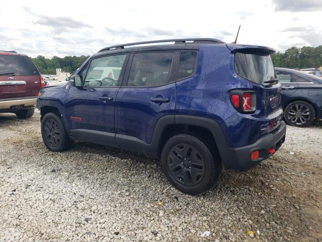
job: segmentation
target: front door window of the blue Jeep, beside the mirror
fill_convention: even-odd
[[[115,87],[118,84],[126,54],[92,59],[84,87]],[[86,68],[87,69],[87,68]],[[86,69],[83,73],[86,73]]]

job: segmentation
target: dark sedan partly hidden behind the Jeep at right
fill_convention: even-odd
[[[282,84],[282,107],[288,125],[309,126],[314,119],[322,118],[322,80],[286,68],[275,68]]]

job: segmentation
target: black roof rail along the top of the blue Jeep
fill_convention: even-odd
[[[187,41],[189,41],[189,42],[187,42]],[[212,38],[163,39],[163,40],[151,40],[151,41],[113,45],[113,46],[109,46],[109,47],[100,49],[98,52],[103,52],[103,51],[112,50],[112,49],[124,49],[124,46],[139,45],[139,44],[165,43],[165,42],[175,42],[175,44],[183,44],[183,43],[190,43],[190,42],[207,43],[207,44],[224,43],[223,41],[221,41],[219,39],[212,39]]]

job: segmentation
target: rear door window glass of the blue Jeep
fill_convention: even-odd
[[[170,82],[175,52],[135,53],[127,86],[161,86]]]

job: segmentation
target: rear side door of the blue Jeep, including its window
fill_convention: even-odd
[[[168,115],[174,122],[178,64],[179,51],[131,53],[116,98],[118,146],[139,149],[151,143],[161,117]]]

